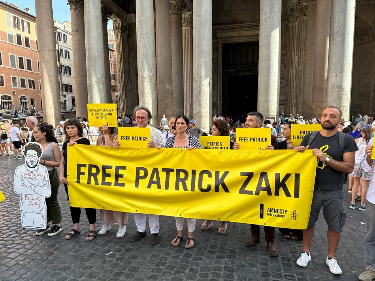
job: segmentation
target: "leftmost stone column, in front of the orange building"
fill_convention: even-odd
[[[61,121],[52,0],[35,1],[43,121],[56,126]],[[36,81],[37,82],[37,81]]]

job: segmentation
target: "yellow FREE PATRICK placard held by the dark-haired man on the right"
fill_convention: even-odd
[[[265,149],[271,144],[271,128],[238,128],[236,142],[240,149]]]

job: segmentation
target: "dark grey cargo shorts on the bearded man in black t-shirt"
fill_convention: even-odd
[[[314,189],[308,227],[315,226],[320,209],[323,206],[323,216],[330,229],[335,232],[344,230],[347,214],[343,205],[344,193],[341,190]]]

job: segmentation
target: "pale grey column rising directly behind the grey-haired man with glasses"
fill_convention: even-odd
[[[147,106],[158,125],[153,0],[136,0],[137,64],[139,104]],[[168,15],[169,17],[169,15]]]

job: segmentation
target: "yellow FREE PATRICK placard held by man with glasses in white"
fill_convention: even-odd
[[[122,147],[147,147],[147,143],[151,141],[151,130],[147,127],[118,127],[117,135]]]

